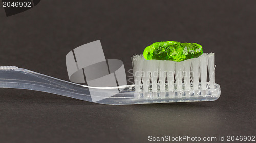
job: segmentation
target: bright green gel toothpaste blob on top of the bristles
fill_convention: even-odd
[[[147,46],[143,52],[146,60],[184,61],[203,54],[203,48],[197,43],[180,43],[176,41],[156,42]]]

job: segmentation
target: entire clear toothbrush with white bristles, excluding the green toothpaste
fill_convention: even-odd
[[[0,66],[0,87],[42,91],[89,102],[93,102],[92,96],[108,97],[94,103],[110,105],[215,101],[220,97],[220,86],[214,80],[214,53],[181,62],[146,60],[143,55],[134,55],[132,63],[133,85],[89,87],[16,66]]]

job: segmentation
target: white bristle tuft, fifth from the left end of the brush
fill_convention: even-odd
[[[167,61],[167,82],[168,91],[174,91],[174,75],[175,75],[175,63],[174,61]]]

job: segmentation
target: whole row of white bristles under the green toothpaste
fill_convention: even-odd
[[[137,92],[180,91],[181,93],[206,90],[215,86],[214,53],[203,53],[198,58],[181,62],[145,60],[143,55],[134,55],[132,61]],[[207,82],[207,75],[209,82]],[[178,97],[182,96],[179,93],[176,94]],[[197,96],[196,92],[193,94]]]

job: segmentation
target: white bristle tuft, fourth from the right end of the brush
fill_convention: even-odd
[[[191,60],[185,60],[184,61],[184,85],[185,85],[185,90],[190,89],[190,71],[191,71]]]

